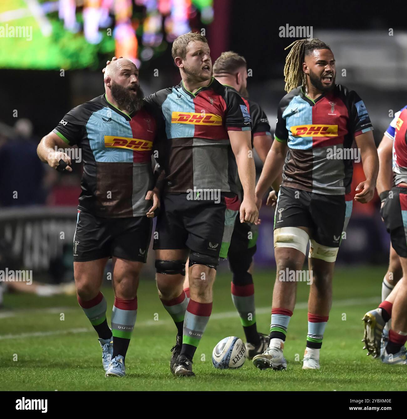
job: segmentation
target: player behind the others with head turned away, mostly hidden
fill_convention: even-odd
[[[251,146],[264,163],[272,144],[270,125],[267,116],[258,103],[247,99],[247,64],[244,57],[236,52],[223,52],[213,63],[213,76],[219,83],[239,93],[246,103],[251,116]],[[245,98],[246,96],[246,98]],[[277,178],[274,189],[278,192],[281,176]],[[243,189],[239,178],[239,198]],[[256,313],[254,305],[254,285],[251,272],[253,270],[253,255],[256,253],[258,230],[254,224],[241,223],[236,217],[235,227],[228,251],[229,266],[232,271],[231,294],[233,304],[239,313],[240,321],[246,336],[246,357],[262,354],[270,343],[269,336],[257,331]],[[185,274],[184,291],[189,296],[188,275]]]

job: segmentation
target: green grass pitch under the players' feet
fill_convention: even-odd
[[[297,307],[285,344],[287,371],[257,370],[246,360],[239,370],[215,370],[212,350],[226,336],[244,339],[230,296],[231,275],[220,273],[213,313],[194,357],[194,378],[174,378],[169,370],[175,326],[158,299],[155,283],[141,281],[138,314],[125,378],[105,378],[101,349],[75,297],[5,295],[0,310],[0,390],[398,390],[403,366],[382,365],[362,351],[363,314],[377,306],[386,267],[340,268],[334,275],[334,303],[321,350],[321,370],[302,370],[308,285],[298,284]],[[254,274],[259,331],[270,328],[273,271]],[[113,292],[102,290],[110,321]],[[61,320],[64,313],[64,320]],[[16,355],[15,355],[16,354]],[[17,360],[13,360],[16,359]]]

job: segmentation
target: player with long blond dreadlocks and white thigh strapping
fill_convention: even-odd
[[[287,95],[277,110],[275,141],[256,187],[256,203],[283,168],[274,222],[277,279],[274,285],[270,345],[253,358],[258,368],[286,369],[283,348],[296,302],[296,282],[280,272],[302,270],[310,241],[308,334],[303,369],[319,369],[319,352],[332,304],[332,275],[342,232],[352,211],[353,160],[333,151],[349,149],[355,139],[366,181],[355,200],[370,201],[376,187],[378,156],[372,125],[355,91],[335,84],[335,59],[319,39],[293,42],[284,68]],[[283,167],[284,165],[284,167]],[[288,269],[288,271],[287,271]],[[284,278],[283,278],[284,279]],[[288,279],[288,278],[287,278]]]

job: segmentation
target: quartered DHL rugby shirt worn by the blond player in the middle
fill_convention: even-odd
[[[250,115],[241,97],[212,78],[191,93],[184,83],[146,98],[159,106],[166,127],[163,165],[165,189],[218,189],[238,193],[236,160],[228,130],[250,130]]]

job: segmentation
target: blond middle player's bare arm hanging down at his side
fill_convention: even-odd
[[[243,202],[240,208],[240,222],[256,222],[259,211],[254,203],[256,168],[251,149],[250,131],[228,131],[237,170],[243,187]],[[250,153],[251,152],[251,153]]]

